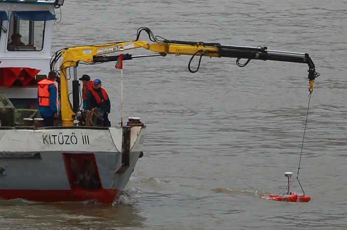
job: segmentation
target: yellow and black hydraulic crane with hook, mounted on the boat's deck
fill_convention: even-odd
[[[139,36],[142,31],[145,31],[148,34],[148,37],[150,38],[152,43],[139,40]],[[74,80],[72,81],[72,88],[75,88],[75,91],[77,90],[76,93],[73,92],[74,108],[72,108],[69,101],[68,77],[66,71],[67,68],[74,67],[74,70],[76,70],[76,67],[80,62],[96,64],[101,62],[117,61],[119,55],[107,55],[120,52],[122,50],[131,50],[136,48],[147,49],[156,54],[142,56],[133,56],[126,54],[123,55],[123,60],[131,60],[133,58],[150,56],[166,56],[168,54],[173,54],[176,56],[189,55],[192,56],[188,64],[188,69],[190,72],[196,72],[197,70],[199,70],[202,57],[236,58],[236,64],[239,67],[246,66],[252,59],[263,61],[272,60],[281,62],[305,63],[309,66],[308,79],[310,93],[312,93],[313,91],[313,81],[317,76],[319,76],[319,73],[315,71],[315,65],[313,64],[312,59],[306,53],[292,53],[279,50],[270,50],[267,49],[267,47],[261,46],[232,46],[222,45],[219,43],[167,40],[158,36],[154,37],[152,31],[148,28],[140,28],[137,32],[137,38],[134,41],[113,42],[90,46],[75,46],[59,50],[59,52],[55,54],[55,56],[51,60],[51,70],[54,70],[54,66],[58,62],[58,59],[61,56],[63,57],[63,61],[60,65],[60,79],[58,79],[60,90],[60,115],[63,126],[73,125],[73,120],[75,120],[75,113],[77,112],[75,105],[79,104],[79,82],[77,81],[77,71],[74,71]],[[190,64],[195,56],[200,56],[199,65],[196,70],[191,70]],[[245,59],[245,63],[241,64],[241,59]],[[77,100],[75,100],[75,95],[76,97],[78,97]]]

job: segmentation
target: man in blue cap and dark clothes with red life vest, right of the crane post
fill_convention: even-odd
[[[110,127],[111,122],[108,119],[108,114],[111,111],[110,98],[108,97],[105,89],[101,88],[100,79],[95,79],[93,87],[88,90],[86,97],[87,110],[98,108],[104,110],[104,127]]]

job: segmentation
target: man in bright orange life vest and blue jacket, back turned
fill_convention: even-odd
[[[58,88],[54,83],[56,72],[50,71],[47,78],[38,83],[39,112],[45,127],[54,126],[54,119],[58,118]]]

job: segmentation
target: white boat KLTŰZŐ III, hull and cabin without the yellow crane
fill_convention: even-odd
[[[51,60],[61,1],[0,1],[0,197],[112,203],[143,156],[146,126],[42,127],[37,82]],[[12,45],[21,35],[24,44]]]

